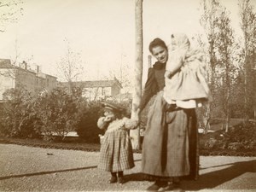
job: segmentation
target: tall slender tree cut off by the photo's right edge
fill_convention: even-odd
[[[256,114],[255,67],[256,67],[256,13],[251,0],[239,2],[241,30],[243,32],[242,76],[244,86],[244,120],[247,122],[254,108]],[[255,118],[255,117],[254,117]]]

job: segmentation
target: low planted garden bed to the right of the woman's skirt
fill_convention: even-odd
[[[256,156],[256,124],[239,123],[228,132],[200,134],[201,155]]]

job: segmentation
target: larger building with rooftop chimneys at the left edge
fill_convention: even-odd
[[[57,78],[42,73],[39,66],[32,70],[25,61],[17,67],[9,59],[0,59],[0,100],[3,100],[3,93],[12,88],[24,87],[32,94],[38,94],[56,86]]]

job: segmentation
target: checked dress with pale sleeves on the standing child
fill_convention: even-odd
[[[109,124],[98,119],[100,129],[107,128],[101,146],[98,168],[107,172],[122,172],[134,167],[131,140],[127,129],[133,129],[129,124],[131,119],[116,119]],[[126,130],[124,129],[126,128]]]

